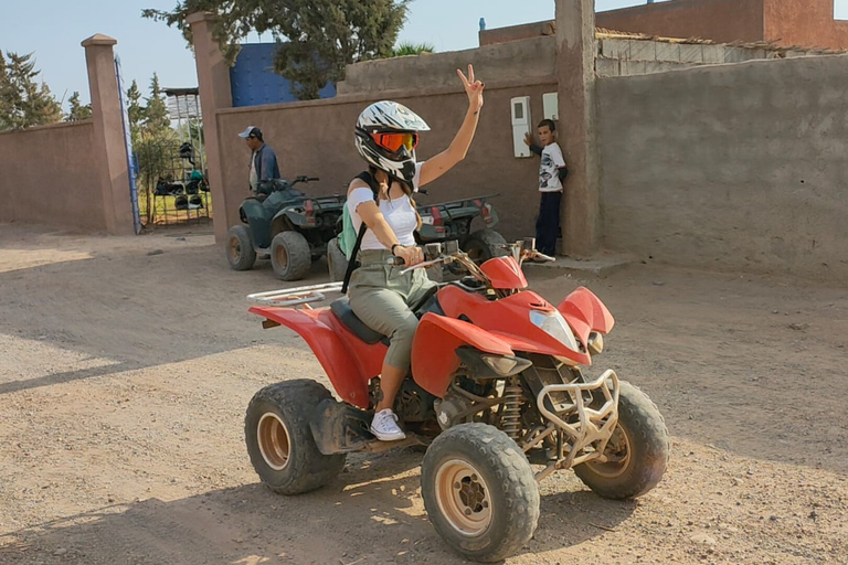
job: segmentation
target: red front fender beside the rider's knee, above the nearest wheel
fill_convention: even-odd
[[[412,342],[412,375],[430,394],[445,396],[459,367],[455,351],[471,345],[486,353],[513,355],[509,344],[474,324],[427,312],[421,318]]]

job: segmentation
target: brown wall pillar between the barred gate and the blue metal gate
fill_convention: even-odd
[[[233,106],[233,94],[230,88],[230,67],[224,55],[212,39],[212,22],[215,14],[195,12],[188,17],[194,44],[194,61],[198,66],[198,87],[200,90],[200,108],[203,114],[203,136],[206,149],[206,167],[209,183],[212,191],[212,202],[215,206],[213,225],[215,242],[223,243],[226,232],[235,224],[239,216],[237,202],[226,201],[224,175],[221,168],[221,142],[218,131],[218,110]],[[233,205],[231,205],[233,204]],[[234,209],[231,210],[231,209]]]

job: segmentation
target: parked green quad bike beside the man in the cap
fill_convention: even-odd
[[[258,257],[271,258],[274,274],[283,280],[309,274],[312,262],[327,253],[344,205],[344,196],[308,198],[294,188],[318,180],[259,181],[258,194],[246,198],[239,209],[242,224],[226,235],[226,259],[233,269],[248,270]]]

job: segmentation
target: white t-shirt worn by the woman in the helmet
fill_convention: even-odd
[[[418,191],[418,181],[421,179],[421,166],[423,162],[415,164],[415,178],[412,180],[412,190]],[[374,193],[370,188],[353,189],[348,194],[348,213],[353,221],[353,228],[359,233],[359,228],[362,225],[362,218],[357,212],[357,207],[363,202],[373,202]],[[389,223],[389,227],[392,228],[398,241],[404,247],[415,245],[415,236],[413,233],[418,227],[418,216],[415,215],[415,209],[412,206],[412,201],[406,194],[393,199],[393,200],[380,200],[378,202],[380,212]],[[371,230],[365,231],[365,235],[362,236],[362,244],[360,249],[386,249],[386,247],[380,243]]]

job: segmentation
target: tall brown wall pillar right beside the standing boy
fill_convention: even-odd
[[[595,41],[594,0],[556,0],[559,141],[570,171],[563,199],[562,247],[572,257],[589,257],[600,248]]]

